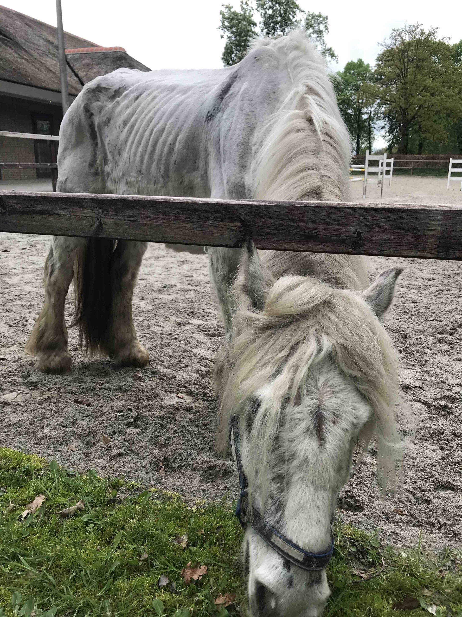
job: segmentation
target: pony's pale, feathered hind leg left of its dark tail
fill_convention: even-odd
[[[77,251],[84,243],[84,238],[63,236],[55,236],[51,242],[45,262],[45,301],[26,344],[26,352],[37,356],[36,368],[45,373],[65,373],[71,368],[64,303]]]

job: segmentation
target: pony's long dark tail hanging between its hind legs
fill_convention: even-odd
[[[76,261],[72,326],[78,326],[79,344],[90,354],[110,355],[111,352],[109,330],[115,247],[116,240],[89,238]]]

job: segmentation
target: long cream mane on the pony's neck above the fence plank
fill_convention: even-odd
[[[348,201],[349,135],[326,63],[306,33],[257,39],[293,88],[264,129],[253,166],[254,199]]]

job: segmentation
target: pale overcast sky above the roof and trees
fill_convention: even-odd
[[[1,4],[56,25],[54,0],[0,0]],[[62,0],[63,26],[68,32],[102,46],[120,45],[148,67],[221,67],[223,41],[217,27],[222,0]],[[236,6],[238,2],[233,2]],[[348,60],[373,63],[378,43],[406,21],[439,27],[441,36],[462,38],[462,4],[446,0],[299,0],[302,9],[329,18],[327,43]]]

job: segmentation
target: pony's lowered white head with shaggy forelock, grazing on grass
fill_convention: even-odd
[[[381,479],[394,479],[397,356],[379,318],[399,274],[384,271],[365,291],[306,276],[275,280],[251,242],[243,249],[238,309],[216,372],[222,446],[232,421],[249,517],[307,552],[331,547],[336,497],[357,444],[375,433]],[[325,569],[294,565],[255,527],[246,526],[243,544],[251,614],[320,615],[330,594]]]

